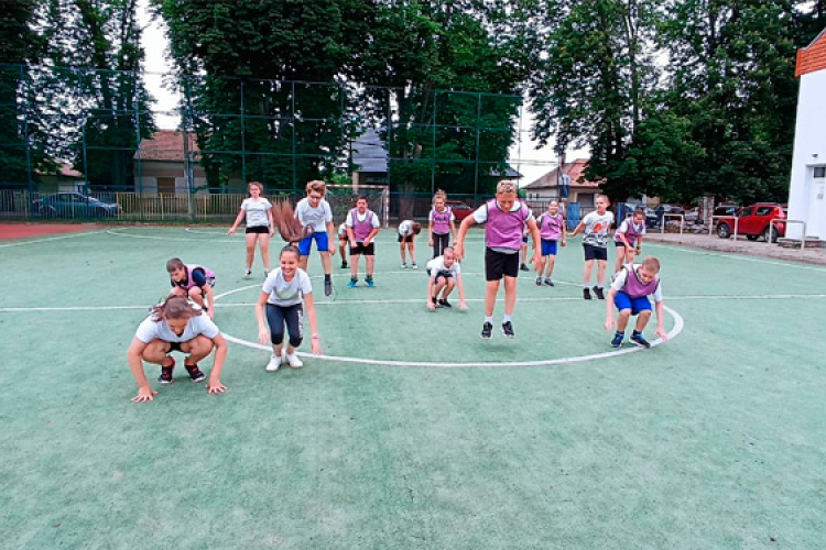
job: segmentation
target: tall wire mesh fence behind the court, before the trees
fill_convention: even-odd
[[[153,101],[152,80],[176,107]],[[116,194],[123,216],[142,220],[225,216],[222,199],[200,195],[241,194],[250,180],[293,195],[317,178],[442,188],[475,206],[526,166],[554,169],[523,151],[529,132],[519,95],[0,65],[0,189],[30,202]],[[419,217],[415,205],[396,210]]]

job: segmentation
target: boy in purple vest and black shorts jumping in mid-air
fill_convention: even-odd
[[[504,317],[502,333],[513,338],[511,316],[517,305],[517,275],[519,274],[519,250],[522,246],[523,228],[528,226],[533,238],[533,264],[542,265],[540,255],[540,230],[531,210],[517,200],[517,184],[510,180],[499,182],[496,198],[474,211],[461,221],[456,238],[456,257],[465,257],[465,235],[475,223],[485,223],[485,278],[488,286],[485,290],[485,323],[481,338],[489,340],[493,331],[493,307],[496,306],[499,284],[504,277]]]

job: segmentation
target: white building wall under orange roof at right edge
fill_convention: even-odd
[[[806,237],[826,240],[826,178],[814,177],[818,166],[826,166],[826,69],[801,77],[789,189],[789,219],[805,221]],[[786,229],[791,239],[801,233],[798,223]]]

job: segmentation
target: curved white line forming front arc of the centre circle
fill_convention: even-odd
[[[674,311],[671,308],[665,308],[665,311],[671,315],[671,317],[674,319],[674,327],[669,332],[669,340],[673,340],[677,334],[680,334],[683,331],[683,328],[685,327],[685,323],[683,322],[683,318]],[[233,336],[224,333],[224,338],[229,340],[230,342],[235,342],[240,345],[244,345],[247,348],[252,348],[253,350],[264,350],[272,352],[271,345],[264,345],[257,342],[250,342],[248,340],[241,340],[240,338],[236,338]],[[651,342],[651,346],[654,348],[656,345],[660,345],[664,343],[662,339],[656,339],[653,342]],[[382,366],[419,366],[419,367],[425,367],[425,369],[468,369],[468,367],[476,367],[476,369],[504,369],[504,367],[513,367],[513,366],[548,366],[548,365],[559,365],[559,364],[570,364],[570,363],[582,363],[584,361],[593,361],[596,359],[609,359],[618,355],[627,355],[629,353],[637,353],[639,351],[642,351],[642,348],[623,348],[621,350],[617,351],[607,351],[604,353],[594,353],[590,355],[578,355],[574,358],[559,358],[559,359],[545,359],[545,360],[539,360],[539,361],[508,361],[508,362],[490,362],[490,361],[480,361],[480,362],[466,362],[466,363],[449,363],[449,362],[432,362],[432,361],[390,361],[390,360],[381,360],[381,359],[362,359],[362,358],[349,358],[349,356],[343,356],[343,355],[313,355],[312,353],[306,352],[296,352],[298,355],[304,358],[312,358],[314,360],[320,360],[320,361],[337,361],[340,363],[361,363],[361,364],[368,364],[368,365],[382,365]]]

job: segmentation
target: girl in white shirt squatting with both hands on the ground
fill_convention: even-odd
[[[129,345],[127,359],[132,376],[138,382],[138,395],[132,400],[151,402],[157,395],[143,372],[144,361],[161,365],[157,382],[172,384],[175,360],[170,356],[170,352],[188,353],[184,367],[193,382],[203,382],[206,376],[198,369],[198,361],[207,358],[213,350],[215,365],[209,374],[207,389],[210,394],[217,394],[227,389],[220,381],[221,369],[227,359],[227,341],[204,311],[193,307],[183,296],[170,296],[141,322]]]

